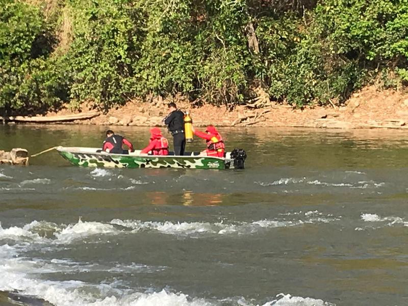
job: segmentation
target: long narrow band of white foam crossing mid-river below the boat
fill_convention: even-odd
[[[11,239],[17,242],[36,242],[48,244],[70,244],[88,237],[157,231],[168,235],[249,235],[276,227],[293,227],[312,223],[330,223],[340,217],[323,216],[317,211],[304,213],[305,218],[297,220],[256,220],[252,222],[171,222],[113,219],[109,223],[82,221],[73,224],[56,224],[46,221],[32,221],[22,227],[3,228],[0,223],[0,239]],[[300,217],[300,216],[299,216]],[[297,217],[297,218],[299,218]],[[387,219],[391,220],[391,219]],[[392,219],[398,222],[400,219]],[[402,222],[402,220],[401,220]],[[407,223],[408,224],[408,223]],[[114,225],[127,227],[130,230],[119,230]],[[404,223],[405,225],[405,223]],[[408,226],[408,225],[407,225]]]

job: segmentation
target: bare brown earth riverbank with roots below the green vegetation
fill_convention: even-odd
[[[389,128],[408,129],[408,94],[395,90],[377,91],[374,86],[354,93],[344,106],[307,106],[293,108],[289,105],[270,104],[261,109],[238,106],[232,111],[225,107],[202,105],[192,107],[184,97],[176,97],[177,107],[191,113],[195,126],[291,126],[332,129]],[[106,113],[90,119],[70,121],[75,124],[154,126],[162,125],[167,115],[169,100],[151,98],[146,101],[129,101]],[[95,112],[90,105],[82,104],[80,110],[63,108],[45,117],[71,116]]]

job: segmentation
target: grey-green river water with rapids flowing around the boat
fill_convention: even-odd
[[[0,147],[100,146],[105,129],[0,125]],[[220,130],[245,170],[79,168],[56,151],[0,166],[3,301],[408,304],[406,132]]]

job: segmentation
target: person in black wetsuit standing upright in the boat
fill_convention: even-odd
[[[169,103],[170,113],[163,119],[164,124],[173,136],[174,155],[184,155],[186,136],[184,135],[184,113],[177,109],[175,103]]]

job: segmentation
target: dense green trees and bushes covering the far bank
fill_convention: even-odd
[[[408,82],[408,0],[0,0],[0,109],[342,103]]]

